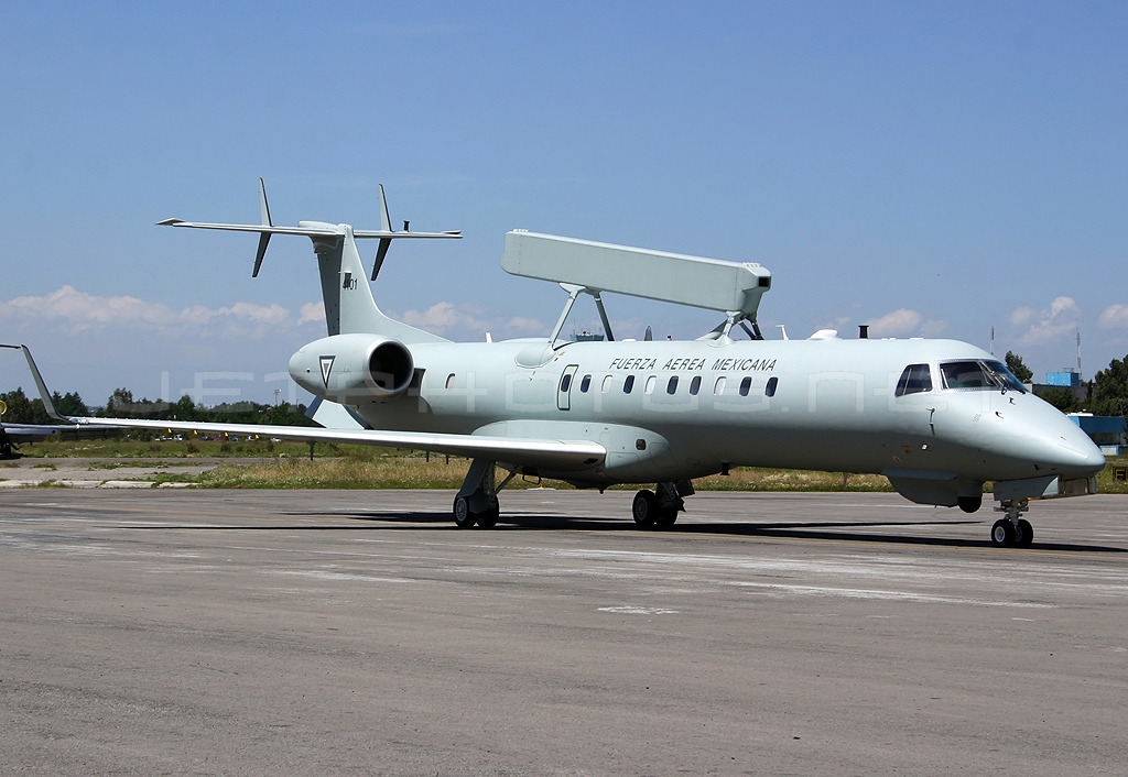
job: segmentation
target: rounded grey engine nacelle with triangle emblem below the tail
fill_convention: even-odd
[[[376,335],[333,335],[290,357],[290,377],[303,389],[345,405],[398,397],[415,373],[412,352]]]

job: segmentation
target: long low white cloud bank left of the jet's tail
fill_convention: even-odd
[[[307,318],[307,308],[312,306],[312,302],[303,306],[302,318],[294,321],[280,304],[235,302],[214,309],[197,304],[176,311],[161,302],[146,302],[135,297],[98,297],[65,285],[44,297],[17,297],[0,302],[0,320],[17,326],[52,327],[71,335],[120,328],[167,336],[262,337],[316,321],[314,317]]]

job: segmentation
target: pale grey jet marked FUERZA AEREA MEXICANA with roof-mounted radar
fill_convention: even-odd
[[[380,230],[300,221],[275,227],[259,179],[261,224],[158,222],[258,232],[253,275],[272,235],[314,242],[327,336],[290,359],[293,380],[347,409],[349,429],[64,417],[55,413],[26,346],[47,412],[79,426],[261,434],[360,443],[472,459],[452,505],[460,528],[490,528],[497,493],[514,477],[600,491],[655,484],[632,503],[641,527],[663,529],[685,510],[693,480],[733,467],[873,473],[911,502],[979,510],[994,484],[990,531],[999,547],[1028,547],[1029,501],[1095,493],[1104,457],[1075,424],[1026,391],[992,354],[952,339],[767,341],[756,323],[772,275],[734,263],[513,230],[502,266],[559,283],[567,301],[547,337],[452,343],[387,317],[377,306],[356,240],[379,239],[371,279],[400,238],[460,232],[391,230],[380,186]],[[723,314],[695,341],[616,341],[601,293],[633,294]],[[567,342],[561,330],[591,297],[607,339]],[[734,337],[740,332],[748,339]],[[363,426],[361,425],[363,423]],[[499,483],[495,470],[506,473]]]

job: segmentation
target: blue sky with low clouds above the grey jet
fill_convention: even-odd
[[[994,326],[1042,373],[1079,325],[1090,377],[1128,353],[1126,34],[1085,2],[9,3],[0,338],[96,404],[164,372],[271,398],[324,334],[309,242],[252,280],[253,236],[153,226],[254,221],[262,176],[276,222],[377,226],[382,182],[397,223],[464,230],[376,288],[455,339],[555,320],[499,267],[520,227],[760,262],[767,333]],[[608,304],[619,336],[716,323]]]

